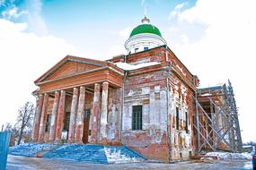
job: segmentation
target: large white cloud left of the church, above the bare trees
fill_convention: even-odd
[[[12,122],[24,102],[34,101],[33,81],[66,55],[80,55],[64,39],[27,33],[27,23],[0,19],[0,125]],[[83,56],[83,55],[82,55]]]

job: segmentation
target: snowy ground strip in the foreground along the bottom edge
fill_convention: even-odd
[[[233,160],[211,160],[210,162],[178,162],[175,164],[161,164],[161,163],[131,163],[119,165],[100,165],[88,164],[84,162],[74,162],[65,160],[56,160],[49,158],[36,158],[36,157],[17,157],[9,155],[7,162],[7,169],[11,170],[38,170],[38,169],[72,169],[72,170],[227,170],[227,169],[252,169],[252,161],[244,159]]]

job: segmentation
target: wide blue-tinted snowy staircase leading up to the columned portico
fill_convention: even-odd
[[[32,154],[22,154],[31,152]],[[56,158],[93,164],[122,164],[131,162],[143,162],[141,156],[126,146],[81,145],[81,144],[38,144],[31,143],[15,146],[10,149],[10,154],[31,157],[40,154],[40,157]]]

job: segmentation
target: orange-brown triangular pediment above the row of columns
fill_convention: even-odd
[[[86,72],[105,66],[105,62],[67,55],[64,59],[45,72],[35,83],[55,80],[71,76],[79,72]]]

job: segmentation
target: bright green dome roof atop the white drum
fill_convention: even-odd
[[[151,25],[151,24],[138,25],[134,30],[131,31],[129,37],[135,36],[137,34],[143,34],[143,33],[155,34],[162,37],[161,32],[156,27],[154,27],[154,25]]]

